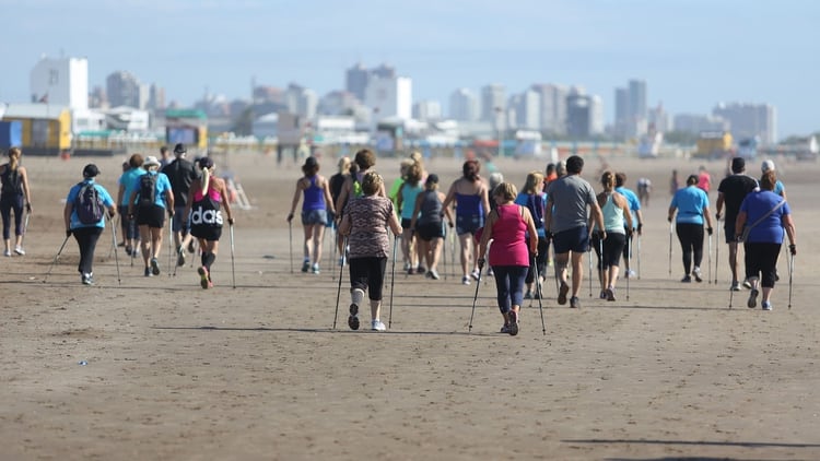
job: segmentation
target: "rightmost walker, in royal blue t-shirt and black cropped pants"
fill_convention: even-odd
[[[774,192],[777,177],[768,170],[760,178],[760,190],[743,199],[735,222],[735,235],[743,241],[746,279],[751,282],[747,306],[757,307],[759,288],[763,288],[762,308],[772,310],[772,291],[775,283],[777,257],[783,245],[783,234],[788,236],[788,250],[797,255],[797,230],[786,199]]]

